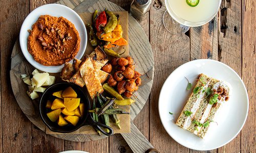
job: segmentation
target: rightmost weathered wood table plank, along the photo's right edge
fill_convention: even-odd
[[[256,30],[256,3],[252,0],[243,0],[242,5],[242,79],[247,87],[250,107],[247,121],[241,131],[241,152],[254,152],[256,150],[256,38],[254,36]]]

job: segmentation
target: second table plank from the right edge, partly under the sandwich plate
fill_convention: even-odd
[[[242,76],[241,50],[242,25],[241,1],[222,1],[219,12],[219,48],[218,60],[233,68]],[[227,145],[218,149],[218,152],[232,150],[240,152],[241,134]]]

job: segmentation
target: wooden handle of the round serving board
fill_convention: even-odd
[[[131,122],[131,133],[122,133],[121,135],[133,152],[159,152],[150,142],[147,141],[133,122]]]

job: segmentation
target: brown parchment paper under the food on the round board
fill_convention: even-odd
[[[129,37],[128,37],[128,12],[114,12],[114,14],[119,14],[120,16],[120,25],[122,26],[123,30],[123,38],[128,41],[129,43]],[[90,23],[92,24],[92,15],[93,13],[79,13],[79,16],[82,18],[84,24]],[[89,31],[87,29],[87,34],[89,34]],[[81,35],[80,35],[81,37]],[[86,47],[86,54],[90,54],[93,50],[93,47],[90,43],[89,36],[87,37],[87,47]],[[122,55],[122,57],[127,57],[129,56],[129,45],[124,45],[124,46],[118,46],[115,47],[114,49],[117,53],[122,53],[123,50],[125,49],[125,53]],[[130,106],[119,106],[119,108],[122,108],[128,112],[130,112]],[[129,114],[117,114],[117,117],[120,120],[120,126],[121,130],[113,124],[113,121],[110,118],[110,125],[114,130],[114,133],[131,133],[131,118]],[[57,133],[57,132],[52,132],[48,127],[46,127],[46,134],[63,134],[63,133]],[[97,134],[95,130],[93,129],[92,126],[82,126],[80,129],[77,131],[72,132],[72,134]]]

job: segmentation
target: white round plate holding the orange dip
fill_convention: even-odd
[[[45,72],[57,73],[61,71],[64,64],[60,66],[41,65],[37,63],[34,60],[33,56],[30,55],[30,53],[28,52],[28,45],[27,45],[28,36],[29,36],[28,30],[32,29],[32,25],[37,21],[40,15],[46,15],[46,14],[51,16],[57,16],[57,17],[60,17],[60,16],[65,17],[75,25],[75,28],[78,31],[81,39],[79,52],[75,56],[75,58],[77,59],[81,59],[84,52],[86,51],[87,31],[82,19],[74,10],[59,4],[47,4],[47,5],[40,6],[35,10],[33,10],[26,17],[19,33],[19,43],[20,43],[20,48],[22,49],[23,55],[28,60],[28,62],[31,65],[33,65],[35,68]]]

